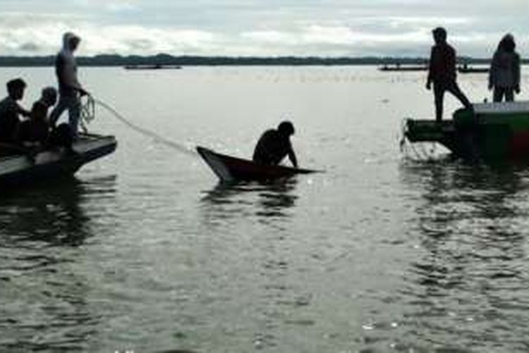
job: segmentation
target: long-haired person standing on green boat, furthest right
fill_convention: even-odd
[[[513,35],[501,38],[492,57],[489,71],[489,90],[494,89],[494,102],[514,101],[514,92],[520,93],[520,55],[515,51]]]

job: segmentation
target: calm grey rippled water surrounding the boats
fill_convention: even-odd
[[[98,111],[118,150],[2,196],[0,351],[526,352],[529,169],[413,161],[425,73],[373,67],[83,68],[100,99],[184,143],[249,156],[291,119],[279,184],[217,185],[196,156]],[[49,68],[2,68],[29,91]],[[528,77],[524,76],[523,87]],[[461,76],[474,100],[483,75]],[[523,96],[526,96],[523,93]],[[446,112],[458,107],[448,97]]]

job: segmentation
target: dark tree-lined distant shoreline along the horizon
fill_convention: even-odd
[[[96,55],[78,57],[79,66],[346,66],[346,65],[425,65],[428,59],[414,57],[319,57],[319,56],[154,56]],[[458,58],[458,64],[484,65],[490,59]],[[529,64],[529,59],[523,60]],[[0,67],[53,66],[54,56],[0,56]]]

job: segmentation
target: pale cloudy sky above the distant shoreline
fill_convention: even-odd
[[[0,0],[0,55],[426,56],[442,25],[487,57],[512,32],[529,54],[529,0]]]

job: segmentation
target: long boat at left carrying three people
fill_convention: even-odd
[[[81,133],[72,145],[73,154],[63,148],[56,148],[43,150],[32,157],[20,153],[2,156],[0,192],[11,186],[72,177],[84,164],[114,152],[116,146],[114,136]]]

